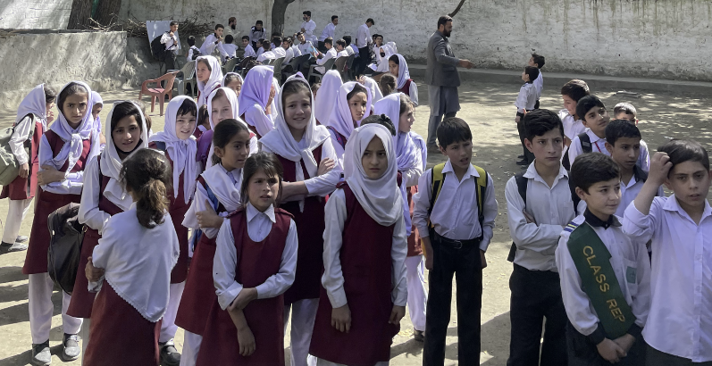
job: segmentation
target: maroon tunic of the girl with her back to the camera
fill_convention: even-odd
[[[108,281],[96,295],[89,333],[84,366],[158,366],[161,320],[154,323],[141,316]]]

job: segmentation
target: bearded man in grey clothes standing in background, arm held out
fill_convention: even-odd
[[[452,32],[452,18],[443,15],[438,19],[438,30],[428,41],[428,67],[425,69],[425,84],[428,85],[428,104],[431,117],[428,123],[428,149],[438,150],[435,144],[435,132],[445,118],[455,117],[460,110],[457,87],[460,86],[460,74],[457,66],[472,69],[469,60],[460,60],[450,48],[448,37]]]

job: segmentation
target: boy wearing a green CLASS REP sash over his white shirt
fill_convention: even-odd
[[[645,365],[650,262],[645,245],[625,235],[615,215],[618,165],[605,154],[582,154],[571,179],[587,209],[566,225],[556,251],[568,364]]]

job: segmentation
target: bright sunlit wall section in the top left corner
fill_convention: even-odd
[[[0,29],[66,29],[71,0],[2,0]]]

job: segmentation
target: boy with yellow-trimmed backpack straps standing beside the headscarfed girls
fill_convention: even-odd
[[[426,309],[424,365],[442,365],[450,320],[452,278],[457,273],[458,360],[480,363],[480,315],[484,253],[490,245],[497,200],[490,175],[471,164],[473,135],[459,118],[438,127],[440,152],[448,162],[418,180],[413,222],[423,238],[425,267],[430,270]]]

